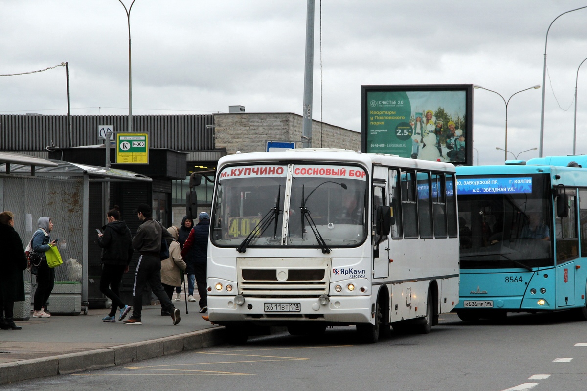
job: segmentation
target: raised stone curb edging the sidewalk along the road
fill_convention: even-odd
[[[215,327],[93,351],[0,363],[0,385],[108,368],[128,362],[207,348],[223,342],[225,342],[224,327]]]

